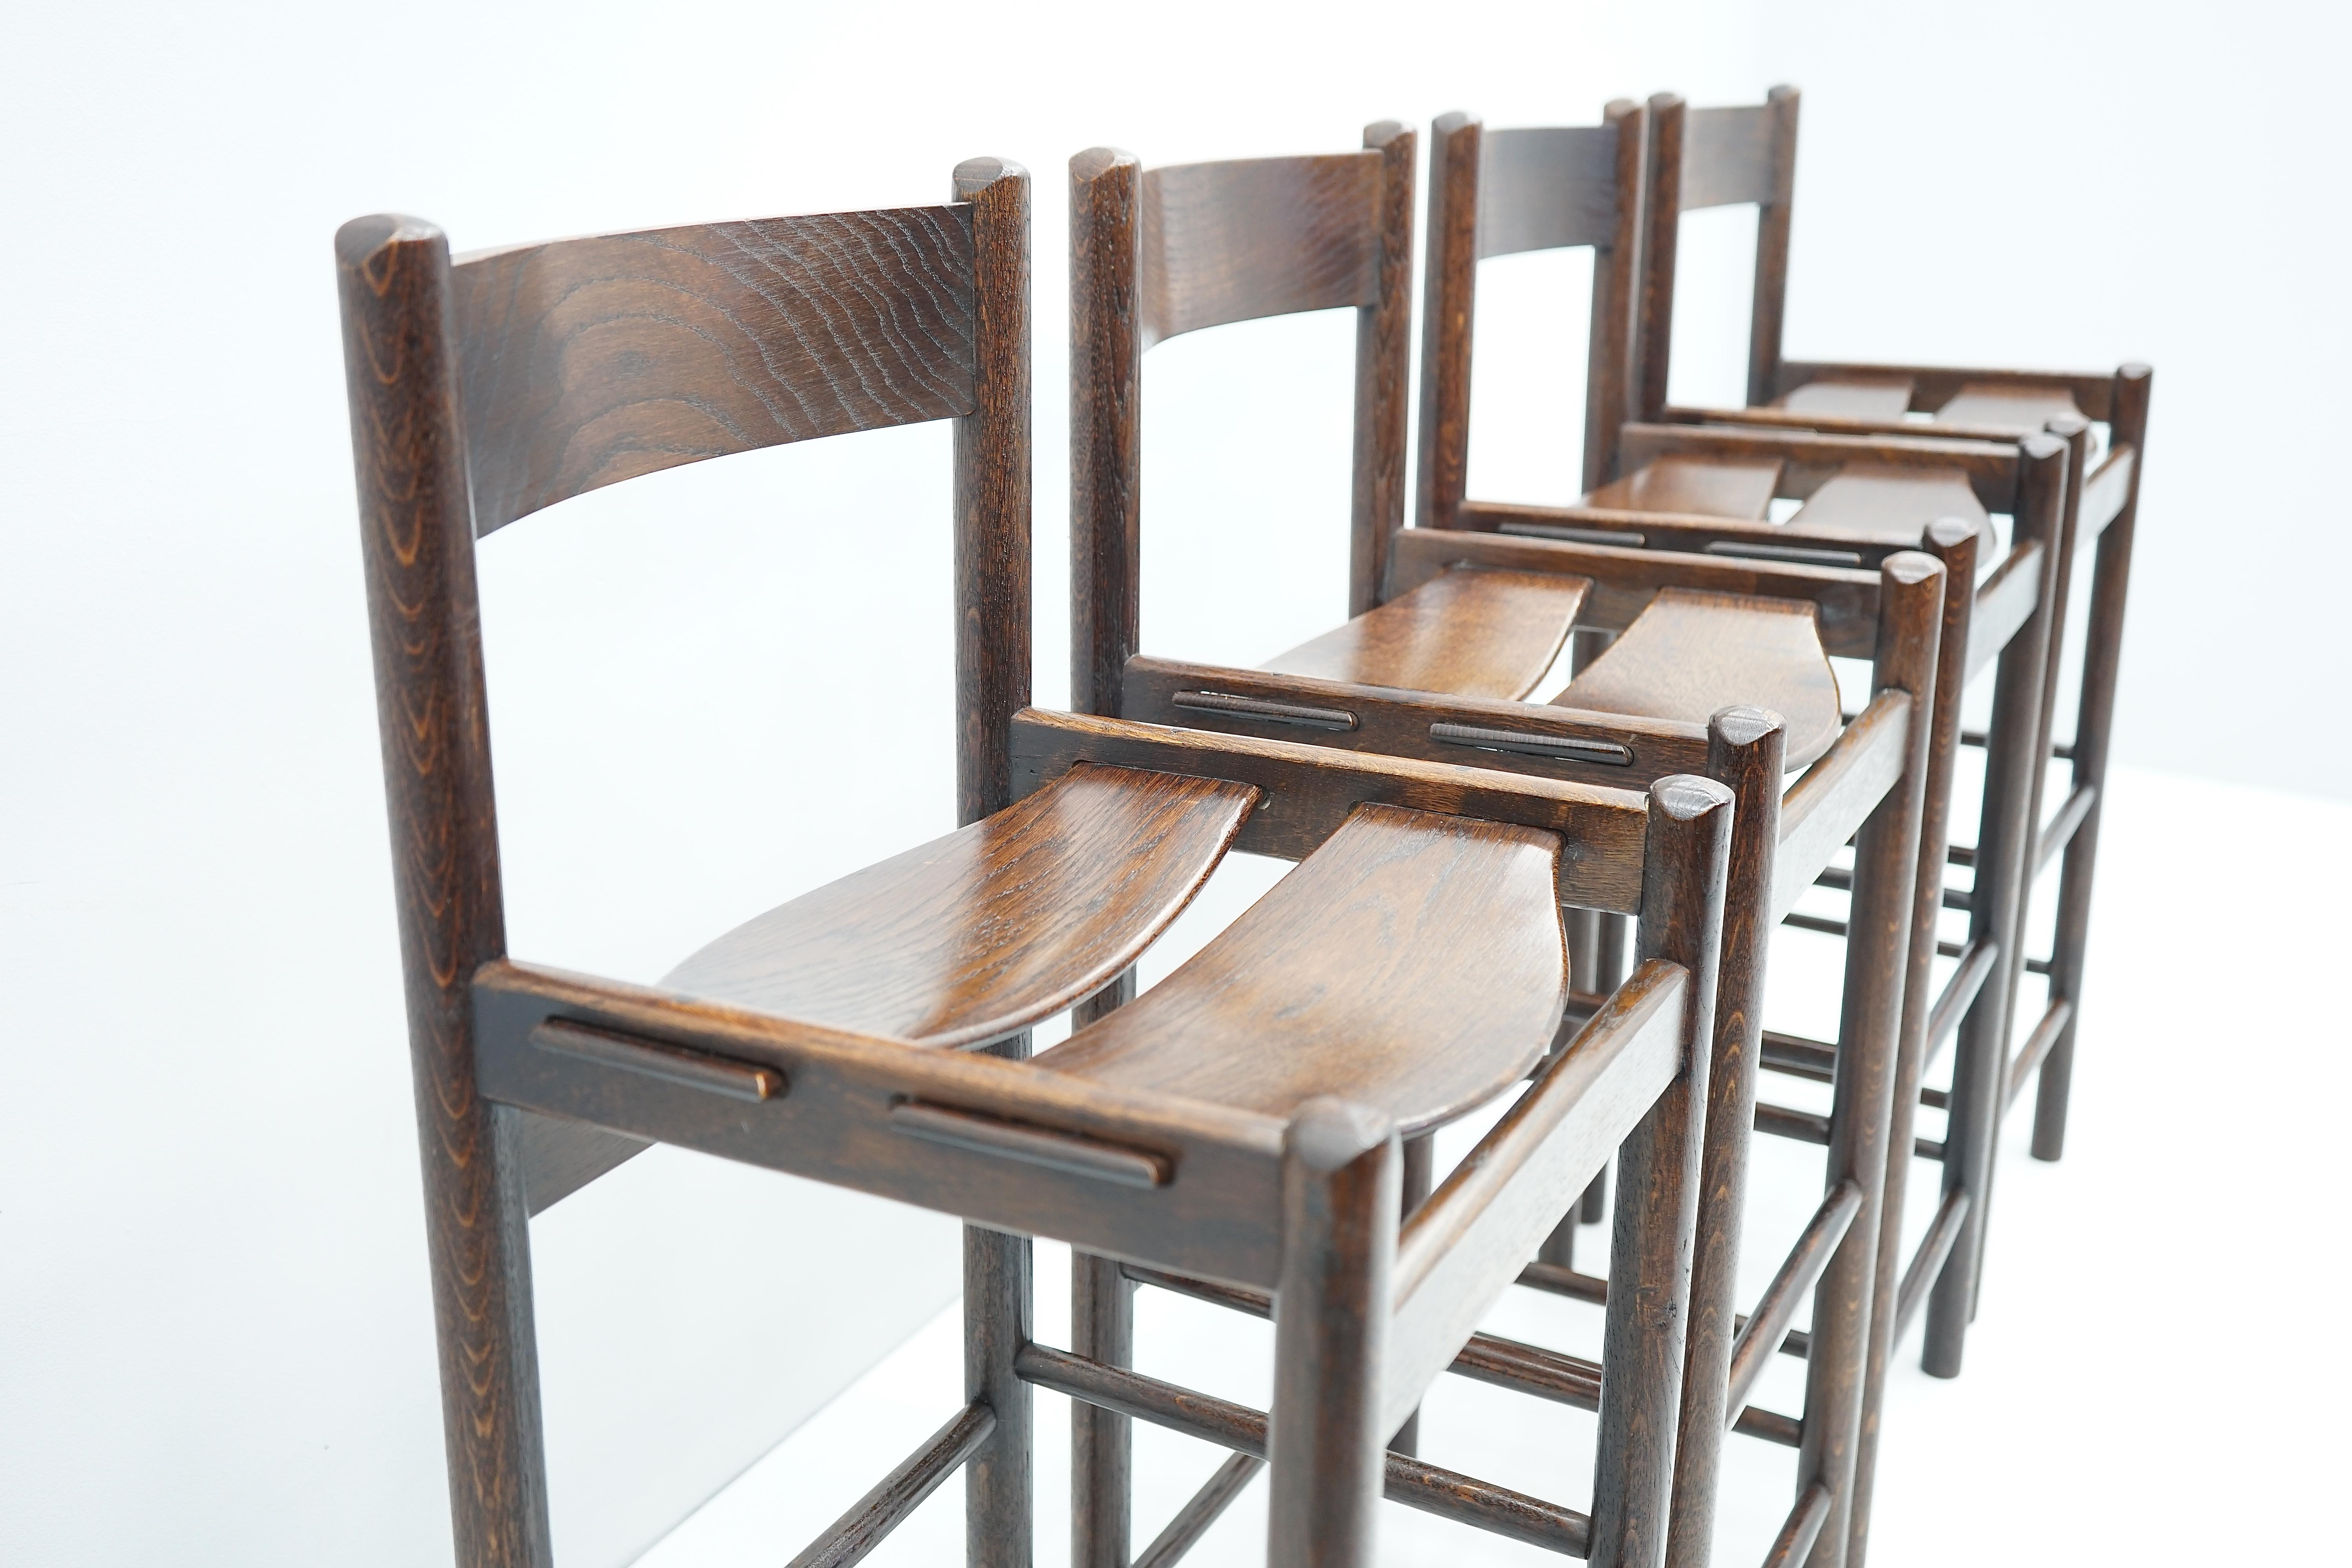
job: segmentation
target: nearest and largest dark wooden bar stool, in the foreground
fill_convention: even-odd
[[[957,1467],[967,1561],[1030,1561],[1030,1385],[1169,1389],[1030,1342],[1030,1237],[1270,1291],[1268,1415],[1169,1420],[1272,1465],[1275,1563],[1371,1561],[1385,1486],[1653,1563],[1679,1406],[1731,797],[1051,715],[1028,703],[1028,176],[941,207],[602,235],[449,261],[336,235],[456,1556],[550,1561],[527,1215],[642,1140],[971,1220],[962,1406],[802,1566],[854,1563]],[[659,468],[955,418],[964,827],[797,898],[661,987],[506,952],[475,538]],[[1028,1056],[1228,846],[1301,858],[1134,1006]],[[1642,917],[1566,1051],[1559,905]],[[1390,940],[1402,936],[1402,940]],[[1279,1018],[1279,1025],[1270,1025]],[[1399,1225],[1397,1128],[1526,1081]],[[1341,1093],[1336,1093],[1341,1091]],[[579,1133],[576,1138],[572,1133]],[[1590,1171],[1623,1147],[1590,1516],[1385,1460]]]

